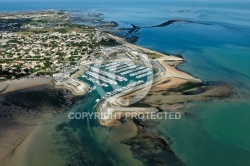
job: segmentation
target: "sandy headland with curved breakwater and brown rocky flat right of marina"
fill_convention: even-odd
[[[102,101],[97,106],[97,112],[99,115],[104,115],[104,119],[99,119],[99,123],[102,126],[110,127],[110,126],[117,126],[120,124],[119,119],[115,119],[116,115],[118,117],[125,117],[126,112],[130,112],[129,110],[133,110],[131,113],[157,113],[158,111],[162,110],[178,110],[183,108],[186,101],[207,101],[212,100],[213,98],[224,98],[225,96],[230,95],[231,90],[229,85],[218,85],[218,86],[205,86],[203,81],[193,77],[192,75],[186,73],[185,71],[181,71],[178,69],[178,65],[184,61],[184,59],[180,57],[175,57],[171,55],[166,55],[159,53],[154,50],[150,50],[141,46],[137,46],[134,44],[130,44],[119,37],[109,34],[114,39],[118,39],[122,44],[132,48],[132,49],[140,49],[145,53],[154,53],[160,54],[161,56],[158,58],[153,59],[154,65],[158,64],[158,68],[160,72],[155,75],[152,85],[149,87],[150,90],[148,94],[143,99],[142,103],[149,103],[151,108],[157,108],[157,111],[149,111],[143,112],[140,111],[143,107],[129,107],[129,105],[122,107],[123,111],[111,111],[111,107],[115,106],[124,106],[124,100],[128,100],[127,103],[130,101],[133,102],[136,96],[143,94],[147,88],[147,86],[130,91],[129,93],[121,93],[118,94],[117,98],[111,99],[111,103],[107,100]],[[190,88],[188,88],[190,86]],[[178,89],[182,89],[178,92]],[[172,96],[166,96],[165,93],[169,93],[168,91],[173,91]],[[182,92],[183,91],[183,92]],[[147,92],[146,92],[147,93]],[[192,94],[194,96],[185,95],[185,94]],[[197,94],[196,94],[197,93]],[[157,102],[160,101],[160,97],[165,97],[168,102],[159,103],[159,107],[157,106]],[[179,98],[179,99],[178,99]],[[164,100],[164,99],[163,99]],[[175,101],[176,100],[176,101]],[[126,103],[125,103],[126,105]],[[110,108],[109,108],[110,106]],[[106,112],[105,112],[106,110]],[[104,114],[105,113],[105,114]],[[133,118],[133,117],[126,117],[126,118]]]

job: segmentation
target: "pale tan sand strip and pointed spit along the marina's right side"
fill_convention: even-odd
[[[120,42],[122,42],[124,45],[128,47],[140,49],[144,51],[145,53],[154,53],[154,54],[158,54],[161,56],[160,58],[155,59],[155,62],[154,62],[155,65],[159,65],[158,67],[160,69],[160,74],[155,77],[153,81],[153,85],[148,87],[150,90],[148,88],[141,88],[141,89],[136,89],[132,93],[126,94],[124,96],[120,94],[120,96],[118,95],[117,98],[110,100],[111,104],[127,106],[129,105],[129,103],[133,103],[134,101],[137,101],[138,100],[137,98],[142,96],[142,94],[146,95],[148,91],[150,91],[150,93],[152,94],[157,91],[162,91],[162,90],[164,91],[164,90],[168,90],[171,88],[176,88],[187,82],[202,82],[200,79],[197,79],[175,68],[177,64],[183,61],[182,58],[175,57],[175,56],[168,56],[168,55],[159,53],[157,51],[149,50],[140,46],[130,44],[116,36],[113,36],[113,35],[111,36],[114,39],[119,40]],[[97,109],[98,112],[101,112],[101,110],[99,109]],[[105,109],[105,108],[102,108],[102,109]],[[139,107],[134,108],[133,112],[140,113],[140,108]],[[119,114],[119,113],[115,113],[115,114]],[[106,121],[100,120],[100,124],[104,126],[117,125],[116,123],[117,121],[112,120],[112,119],[109,119]]]

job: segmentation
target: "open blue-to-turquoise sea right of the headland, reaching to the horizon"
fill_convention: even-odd
[[[238,97],[194,103],[185,111],[195,113],[195,119],[165,120],[158,128],[171,138],[171,148],[186,165],[250,165],[250,2],[0,2],[0,11],[43,9],[95,10],[107,21],[141,27],[170,19],[206,23],[142,28],[136,44],[181,53],[186,60],[181,70],[204,81],[232,83]]]

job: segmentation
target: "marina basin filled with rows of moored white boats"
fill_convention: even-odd
[[[147,76],[153,73],[150,68],[133,62],[111,62],[89,65],[81,78],[96,86],[95,89],[102,87],[105,91],[103,97],[106,98],[146,83]]]

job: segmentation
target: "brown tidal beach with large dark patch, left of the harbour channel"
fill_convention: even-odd
[[[11,89],[0,94],[0,165],[44,120],[61,114],[76,101],[70,92],[55,89],[50,79],[42,80],[9,81]],[[14,87],[17,82],[26,85]]]

